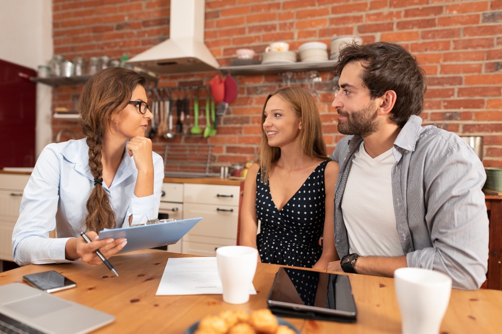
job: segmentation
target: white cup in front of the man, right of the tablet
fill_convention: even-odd
[[[451,292],[451,278],[423,268],[399,268],[394,283],[403,334],[439,333]]]

